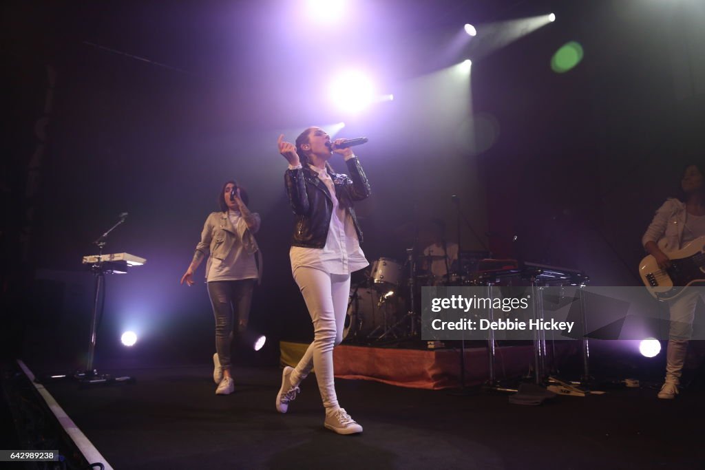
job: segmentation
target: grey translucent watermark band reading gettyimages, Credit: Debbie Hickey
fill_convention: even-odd
[[[689,287],[680,296],[703,296]],[[644,287],[422,287],[422,339],[705,339],[705,328],[670,321],[668,302]]]

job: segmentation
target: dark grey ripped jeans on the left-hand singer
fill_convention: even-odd
[[[238,333],[247,330],[254,287],[255,279],[213,280],[208,283],[208,296],[216,319],[216,352],[223,369],[231,366],[233,321],[238,321]]]

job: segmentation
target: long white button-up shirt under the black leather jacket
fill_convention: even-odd
[[[350,156],[350,158],[353,157]],[[299,167],[290,166],[290,168]],[[338,204],[336,188],[333,185],[331,175],[325,169],[321,170],[312,165],[310,168],[318,174],[318,178],[326,185],[331,194],[333,201],[331,225],[328,228],[326,245],[322,249],[291,247],[289,258],[292,273],[296,271],[296,268],[305,266],[320,269],[329,274],[350,274],[368,266],[369,263],[360,247],[360,240],[357,240],[353,216],[350,216],[350,213]]]

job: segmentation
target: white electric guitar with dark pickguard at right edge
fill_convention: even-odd
[[[689,285],[705,286],[705,236],[666,256],[670,259],[670,267],[666,269],[659,268],[650,254],[639,264],[639,275],[654,298],[671,300]]]

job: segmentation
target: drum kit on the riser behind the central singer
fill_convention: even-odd
[[[464,252],[460,269],[446,276],[435,276],[429,267],[433,261],[446,259],[443,255],[414,255],[407,249],[407,260],[381,257],[365,273],[365,279],[350,288],[348,315],[345,319],[345,342],[381,342],[410,339],[418,335],[420,314],[415,305],[420,304],[421,287],[439,285],[473,285],[469,270],[486,252]]]

